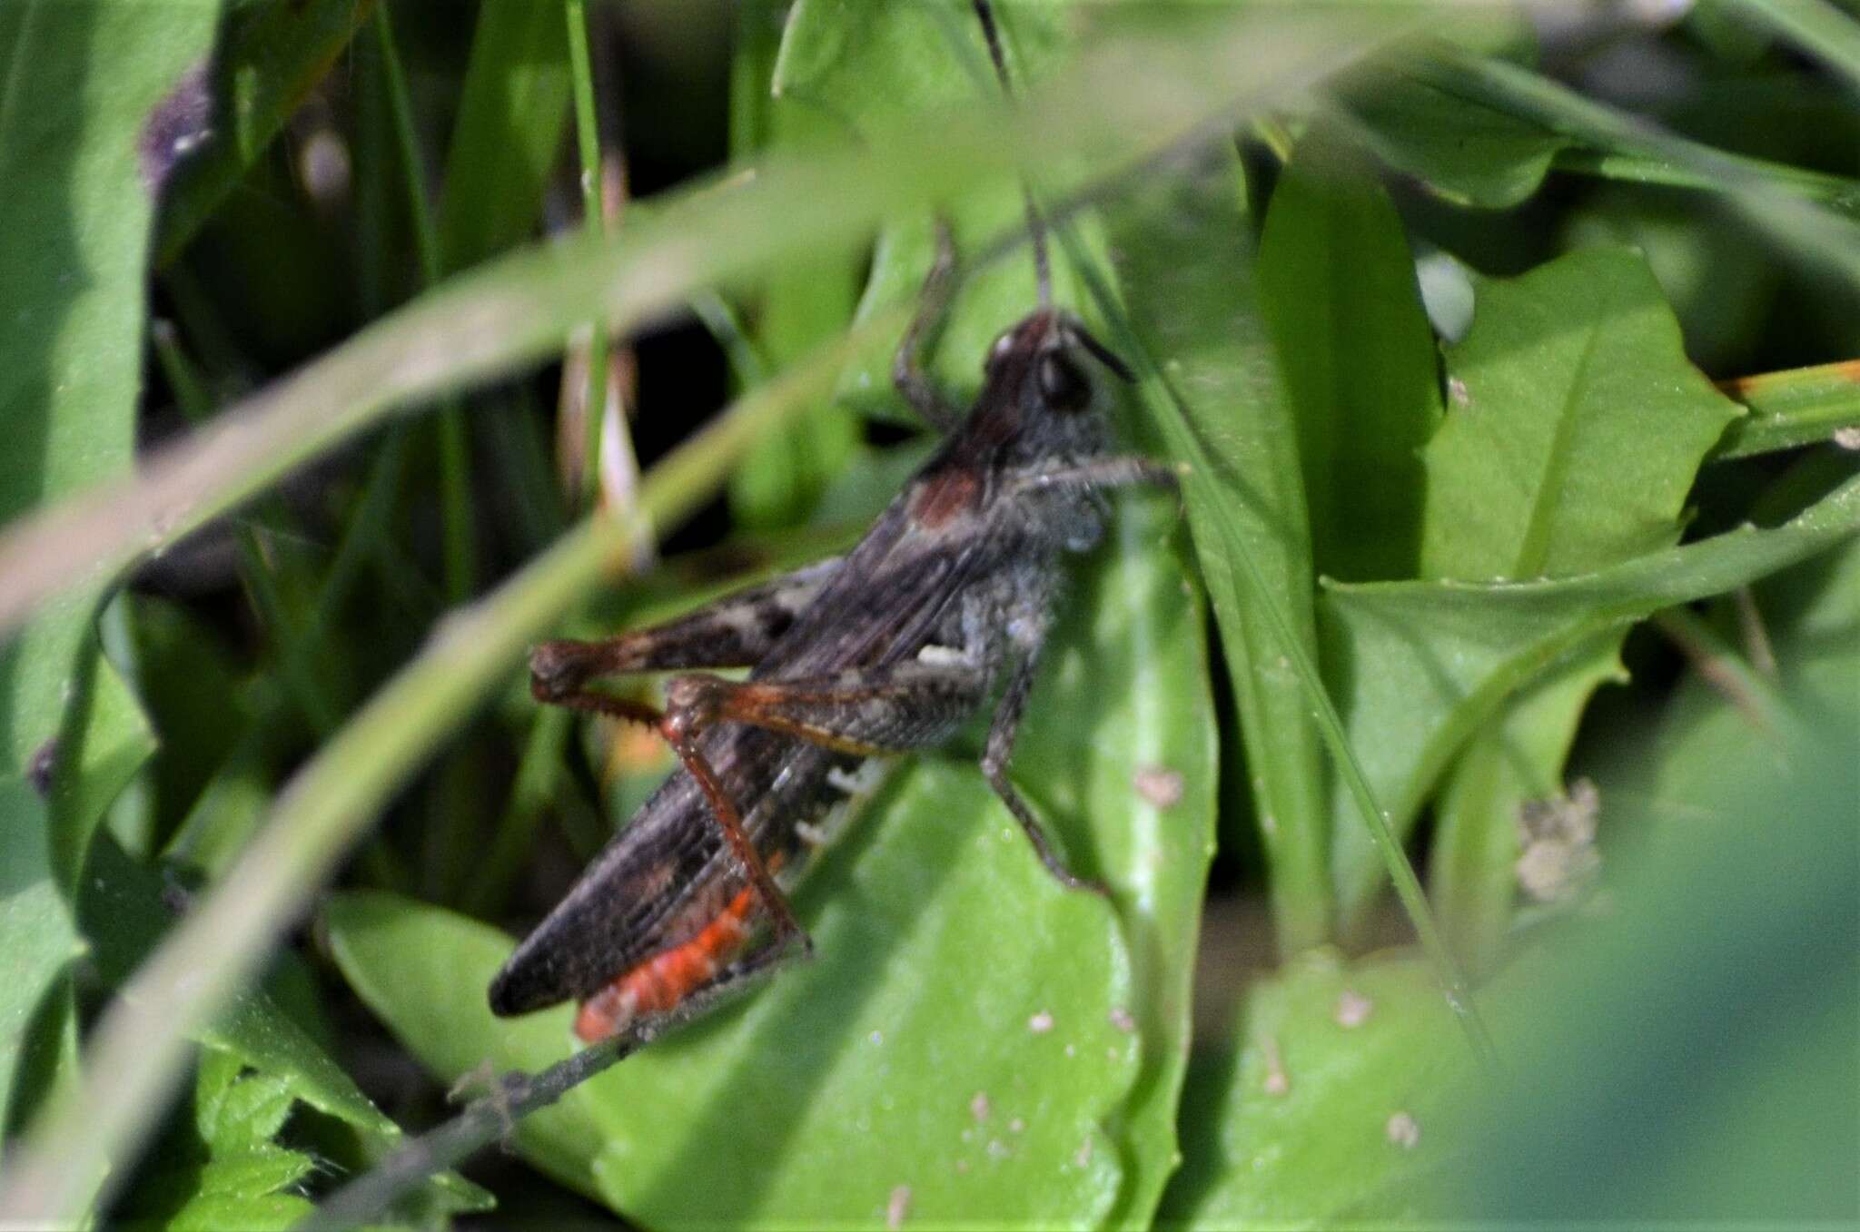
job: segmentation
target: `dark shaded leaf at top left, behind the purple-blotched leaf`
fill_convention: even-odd
[[[93,0],[80,0],[86,7]],[[195,128],[186,134],[199,154],[180,164],[162,208],[156,264],[180,255],[259,154],[283,130],[305,95],[337,65],[342,50],[374,11],[376,0],[262,0],[238,6],[206,71],[199,50]],[[216,4],[169,6],[197,11],[212,33]],[[493,6],[526,7],[526,6]],[[541,7],[541,6],[538,6]],[[193,19],[190,17],[190,22]],[[186,24],[186,22],[180,22]]]

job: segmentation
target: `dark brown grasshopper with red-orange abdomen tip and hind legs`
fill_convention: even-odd
[[[991,13],[976,4],[995,71]],[[1001,334],[962,414],[924,372],[954,268],[939,229],[893,379],[943,444],[859,543],[681,619],[604,641],[549,641],[530,658],[538,701],[655,727],[679,769],[588,866],[491,983],[491,1009],[578,1000],[595,1042],[766,974],[813,942],[777,875],[867,758],[949,740],[993,702],[982,773],[1042,864],[1086,888],[1014,790],[1008,762],[1053,623],[1068,552],[1090,548],[1103,489],[1174,483],[1109,452],[1094,368],[1131,372],[1051,303],[1045,234],[1027,197],[1038,310]],[[746,680],[699,669],[748,667]],[[627,673],[684,673],[664,708],[590,688]],[[761,944],[757,940],[766,937]]]

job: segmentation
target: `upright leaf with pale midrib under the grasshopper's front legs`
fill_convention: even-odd
[[[1049,818],[1088,816],[1092,801],[1129,803],[1122,825],[1096,825],[1090,849],[1071,847],[1071,868],[1112,886],[1131,950],[1127,1024],[1142,1063],[1107,1126],[1127,1169],[1110,1223],[1149,1226],[1179,1160],[1176,1106],[1215,847],[1218,749],[1202,596],[1185,569],[1159,569],[1155,559],[1177,522],[1176,502],[1116,502],[1118,550],[1068,600],[1073,615],[1055,634],[1029,704],[1016,780]],[[1112,702],[1101,699],[1107,682],[1118,684]],[[1094,721],[1070,721],[1081,714]]]

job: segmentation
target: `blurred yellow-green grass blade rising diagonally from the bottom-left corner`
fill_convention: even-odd
[[[660,461],[640,507],[582,522],[512,582],[448,617],[392,682],[324,745],[279,795],[272,818],[218,890],[123,987],[93,1035],[87,1081],[35,1122],[0,1178],[0,1219],[67,1225],[86,1178],[136,1150],[162,1115],[197,1029],[262,963],[383,801],[454,730],[523,649],[595,585],[623,572],[644,526],[688,517],[759,435],[824,396],[841,362],[902,314],[817,351]]]

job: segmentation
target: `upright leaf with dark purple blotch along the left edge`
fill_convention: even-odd
[[[0,351],[9,431],[0,520],[128,472],[151,193],[192,132],[199,82],[184,71],[205,58],[212,20],[210,4],[0,9],[9,80],[0,214],[20,240],[0,245],[13,305]],[[84,695],[97,595],[93,583],[67,596],[0,650],[0,754],[11,773],[28,771]],[[67,827],[60,812],[54,805],[54,862],[69,879],[95,818]]]

